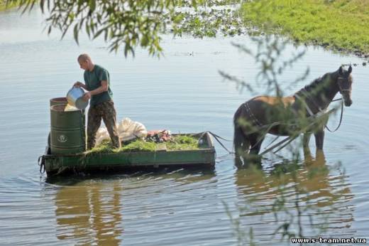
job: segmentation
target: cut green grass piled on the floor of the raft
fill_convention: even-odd
[[[99,146],[87,151],[87,154],[92,153],[117,153],[121,151],[156,151],[166,148],[167,150],[188,150],[199,149],[197,139],[194,137],[178,135],[172,137],[170,141],[163,143],[155,143],[153,141],[144,141],[142,139],[136,139],[129,144],[123,145],[121,149],[113,149],[111,141],[103,141]]]

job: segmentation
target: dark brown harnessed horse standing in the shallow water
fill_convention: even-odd
[[[302,131],[304,148],[308,146],[310,136],[314,133],[316,149],[323,149],[326,121],[309,128],[304,128],[307,124],[302,122],[309,122],[312,117],[325,112],[337,92],[343,96],[345,106],[351,106],[351,71],[351,65],[348,70],[340,67],[336,72],[326,73],[290,97],[263,95],[243,103],[233,117],[236,158],[245,154],[258,154],[267,133],[291,136]]]

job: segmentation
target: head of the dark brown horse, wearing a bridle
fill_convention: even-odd
[[[347,107],[350,107],[353,104],[353,100],[351,100],[351,90],[353,84],[353,78],[351,76],[352,70],[353,68],[351,68],[351,65],[348,70],[344,70],[342,66],[338,69],[338,90],[343,97],[343,102],[345,102],[345,106]]]

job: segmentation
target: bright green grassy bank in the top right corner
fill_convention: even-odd
[[[241,13],[247,25],[297,43],[369,54],[368,0],[255,0]]]

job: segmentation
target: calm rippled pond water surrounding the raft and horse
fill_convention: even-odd
[[[226,139],[232,138],[233,113],[251,95],[224,82],[219,70],[254,85],[258,68],[231,46],[253,47],[247,37],[165,36],[160,60],[140,49],[126,59],[108,53],[101,41],[82,37],[77,46],[71,36],[46,36],[42,20],[38,11],[0,14],[0,245],[238,245],[249,242],[250,228],[258,245],[284,245],[280,233],[274,239],[272,234],[290,220],[286,211],[297,214],[295,200],[307,208],[294,216],[295,232],[301,224],[307,236],[368,237],[367,67],[353,67],[353,105],[345,109],[338,132],[326,133],[325,160],[299,164],[295,176],[282,163],[286,152],[267,156],[261,169],[236,169],[232,156],[216,145],[214,170],[49,180],[36,164],[50,131],[49,100],[83,80],[79,53],[109,70],[119,120],[130,117],[148,129],[174,133],[209,130]],[[284,52],[293,51],[289,46]],[[308,48],[282,78],[292,81],[309,66],[309,82],[341,63],[362,60]],[[329,122],[336,124],[338,116]],[[313,138],[310,144],[314,154]],[[277,178],[280,170],[287,174]],[[287,203],[276,220],[273,205],[281,193]],[[325,223],[320,232],[318,225]]]

